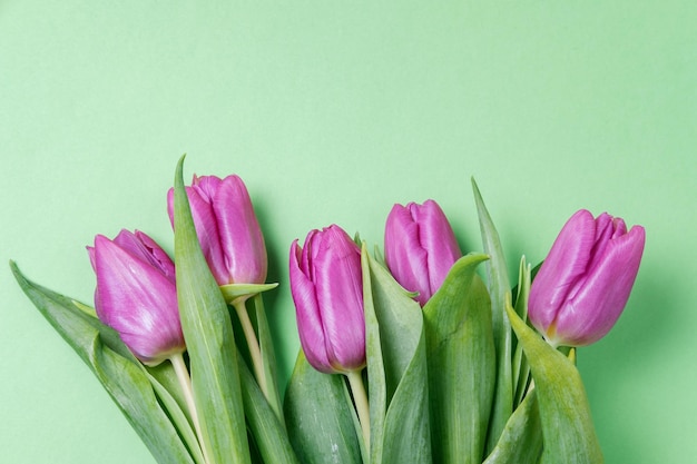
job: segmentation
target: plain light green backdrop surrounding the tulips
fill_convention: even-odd
[[[694,462],[696,23],[691,1],[0,0],[0,261],[91,302],[95,234],[171,251],[187,152],[187,180],[247,184],[285,377],[311,228],[380,245],[392,204],[434,198],[480,250],[474,176],[513,270],[607,210],[647,230],[625,314],[579,352],[607,462]],[[154,462],[4,264],[0,295],[2,461]]]

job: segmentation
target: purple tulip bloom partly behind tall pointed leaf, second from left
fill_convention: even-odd
[[[202,250],[218,285],[263,284],[266,247],[242,179],[194,176],[186,192]],[[167,195],[174,225],[174,189]]]

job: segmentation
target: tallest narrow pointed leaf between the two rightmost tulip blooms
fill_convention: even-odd
[[[487,441],[487,450],[490,451],[495,446],[501,431],[513,412],[511,323],[505,314],[505,297],[511,290],[511,285],[499,233],[484,206],[474,178],[472,178],[472,190],[474,191],[484,253],[490,257],[485,264],[485,269],[489,295],[491,296],[493,343],[497,349],[497,389]]]

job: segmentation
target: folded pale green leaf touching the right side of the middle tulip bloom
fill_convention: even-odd
[[[421,307],[384,266],[369,256],[365,246],[362,266],[371,402],[371,462],[431,463],[429,384]],[[379,373],[381,368],[384,368],[384,374]]]

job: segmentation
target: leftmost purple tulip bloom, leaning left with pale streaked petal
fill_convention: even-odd
[[[97,274],[95,309],[144,364],[156,366],[186,346],[179,322],[175,266],[146,234],[121,230],[87,247]]]

